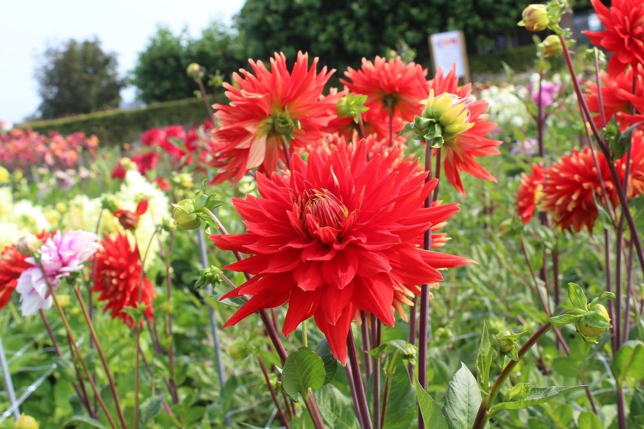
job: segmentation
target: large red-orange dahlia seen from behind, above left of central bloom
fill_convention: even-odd
[[[251,169],[270,174],[278,160],[285,159],[281,136],[288,136],[290,150],[300,152],[316,147],[336,117],[336,102],[344,93],[322,96],[328,78],[323,68],[316,74],[317,58],[308,68],[308,54],[298,53],[292,72],[283,53],[263,62],[249,60],[252,70],[233,73],[238,87],[224,83],[229,105],[215,104],[214,116],[220,127],[213,131],[212,167],[218,167],[214,183],[239,181]],[[307,69],[308,68],[308,69]]]

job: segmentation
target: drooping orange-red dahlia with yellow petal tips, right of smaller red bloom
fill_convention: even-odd
[[[592,232],[598,217],[596,197],[605,204],[600,174],[613,206],[618,204],[608,163],[601,153],[596,156],[600,172],[595,168],[589,147],[584,147],[582,152],[573,149],[572,155],[564,156],[544,171],[543,196],[538,208],[551,212],[554,225],[562,231],[580,232],[585,226]]]

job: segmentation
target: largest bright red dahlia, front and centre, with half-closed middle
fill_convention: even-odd
[[[400,162],[398,150],[366,161],[361,141],[312,152],[308,164],[294,156],[290,172],[258,175],[260,198],[234,199],[247,233],[211,239],[223,250],[254,253],[225,267],[254,277],[224,295],[253,297],[224,327],[288,302],[283,334],[314,316],[345,364],[358,309],[391,326],[395,291],[416,293],[417,285],[442,280],[437,268],[473,262],[415,244],[458,207],[423,208],[437,180],[425,183],[426,173],[417,163]]]

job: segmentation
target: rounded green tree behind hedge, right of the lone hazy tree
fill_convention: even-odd
[[[201,39],[191,39],[185,30],[174,35],[166,26],[159,26],[131,72],[137,98],[148,104],[193,96],[198,86],[185,74],[187,66],[196,62],[207,74],[220,71],[229,75],[243,65],[235,43],[231,30],[216,21],[202,31]]]

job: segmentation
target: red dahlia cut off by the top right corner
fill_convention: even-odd
[[[644,2],[612,0],[610,9],[600,0],[591,0],[591,3],[606,30],[583,33],[592,44],[614,52],[608,62],[608,72],[614,75],[629,64],[644,65]]]

